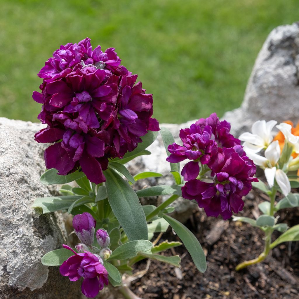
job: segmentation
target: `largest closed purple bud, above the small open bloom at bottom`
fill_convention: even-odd
[[[80,241],[87,246],[90,246],[93,243],[96,223],[97,222],[91,214],[87,212],[75,215],[73,218],[75,233]]]

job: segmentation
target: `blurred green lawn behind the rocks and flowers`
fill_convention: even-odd
[[[243,99],[269,32],[299,20],[297,0],[0,0],[0,116],[37,121],[37,73],[61,44],[86,36],[154,94],[154,116],[222,116]]]

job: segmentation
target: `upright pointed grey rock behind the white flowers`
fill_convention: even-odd
[[[237,137],[256,120],[299,120],[299,25],[271,31],[255,61],[242,106],[226,112]]]

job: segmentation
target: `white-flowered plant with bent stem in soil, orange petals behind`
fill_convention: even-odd
[[[264,171],[267,184],[258,181],[254,183],[254,187],[266,193],[269,201],[259,204],[262,215],[256,220],[234,217],[234,220],[248,222],[265,232],[263,253],[254,260],[240,263],[236,270],[263,261],[271,249],[282,242],[299,240],[299,225],[288,228],[285,223],[277,223],[279,216],[274,217],[281,209],[299,206],[299,194],[291,193],[291,187],[299,187],[299,134],[290,123],[276,124],[275,120],[258,120],[252,125],[252,133],[246,132],[239,137],[241,141],[245,141],[243,149],[248,157]],[[272,129],[275,125],[280,132],[273,138]],[[277,192],[284,197],[276,203]],[[274,230],[283,234],[272,242]]]

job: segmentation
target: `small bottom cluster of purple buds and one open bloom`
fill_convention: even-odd
[[[103,266],[101,256],[109,258],[112,251],[109,248],[104,248],[105,252],[101,253],[99,248],[92,246],[96,221],[90,213],[84,212],[83,214],[75,215],[73,226],[82,243],[75,246],[79,253],[68,245],[63,244],[63,247],[73,251],[74,255],[62,263],[60,273],[63,276],[68,276],[71,281],[77,281],[82,277],[82,293],[87,298],[94,298],[103,289],[104,284],[108,285],[108,272]],[[101,240],[105,240],[103,245],[109,246],[110,238],[108,233],[100,229],[96,233],[97,240],[99,239],[98,235],[101,236]],[[97,249],[96,252],[99,252],[100,255],[95,253],[94,249]]]

